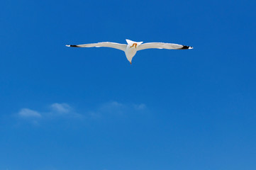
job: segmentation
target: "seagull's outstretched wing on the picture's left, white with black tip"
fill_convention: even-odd
[[[127,45],[118,44],[116,42],[98,42],[93,44],[83,44],[83,45],[66,45],[67,47],[112,47],[118,50],[126,50]]]

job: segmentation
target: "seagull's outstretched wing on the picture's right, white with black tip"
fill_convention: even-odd
[[[186,46],[186,45],[164,43],[164,42],[149,42],[149,43],[139,45],[137,50],[145,50],[148,48],[186,50],[186,49],[192,49],[193,47]]]

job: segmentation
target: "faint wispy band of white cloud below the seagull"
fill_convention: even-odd
[[[130,115],[132,113],[143,113],[148,110],[144,103],[120,103],[110,101],[102,103],[91,111],[77,113],[75,109],[67,103],[52,103],[47,107],[48,111],[35,111],[30,108],[22,108],[18,112],[19,118],[29,118],[28,120],[37,123],[41,120],[57,118],[104,118],[108,115]]]

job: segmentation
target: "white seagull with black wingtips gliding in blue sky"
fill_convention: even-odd
[[[145,50],[149,48],[158,48],[158,49],[168,49],[168,50],[187,50],[193,49],[193,47],[187,45],[178,45],[178,44],[171,44],[171,43],[164,43],[164,42],[135,42],[132,40],[126,39],[126,44],[119,44],[116,42],[98,42],[92,44],[82,44],[82,45],[66,45],[67,47],[112,47],[118,50],[122,50],[126,53],[126,58],[132,64],[133,57],[135,56],[136,52],[139,50]]]

